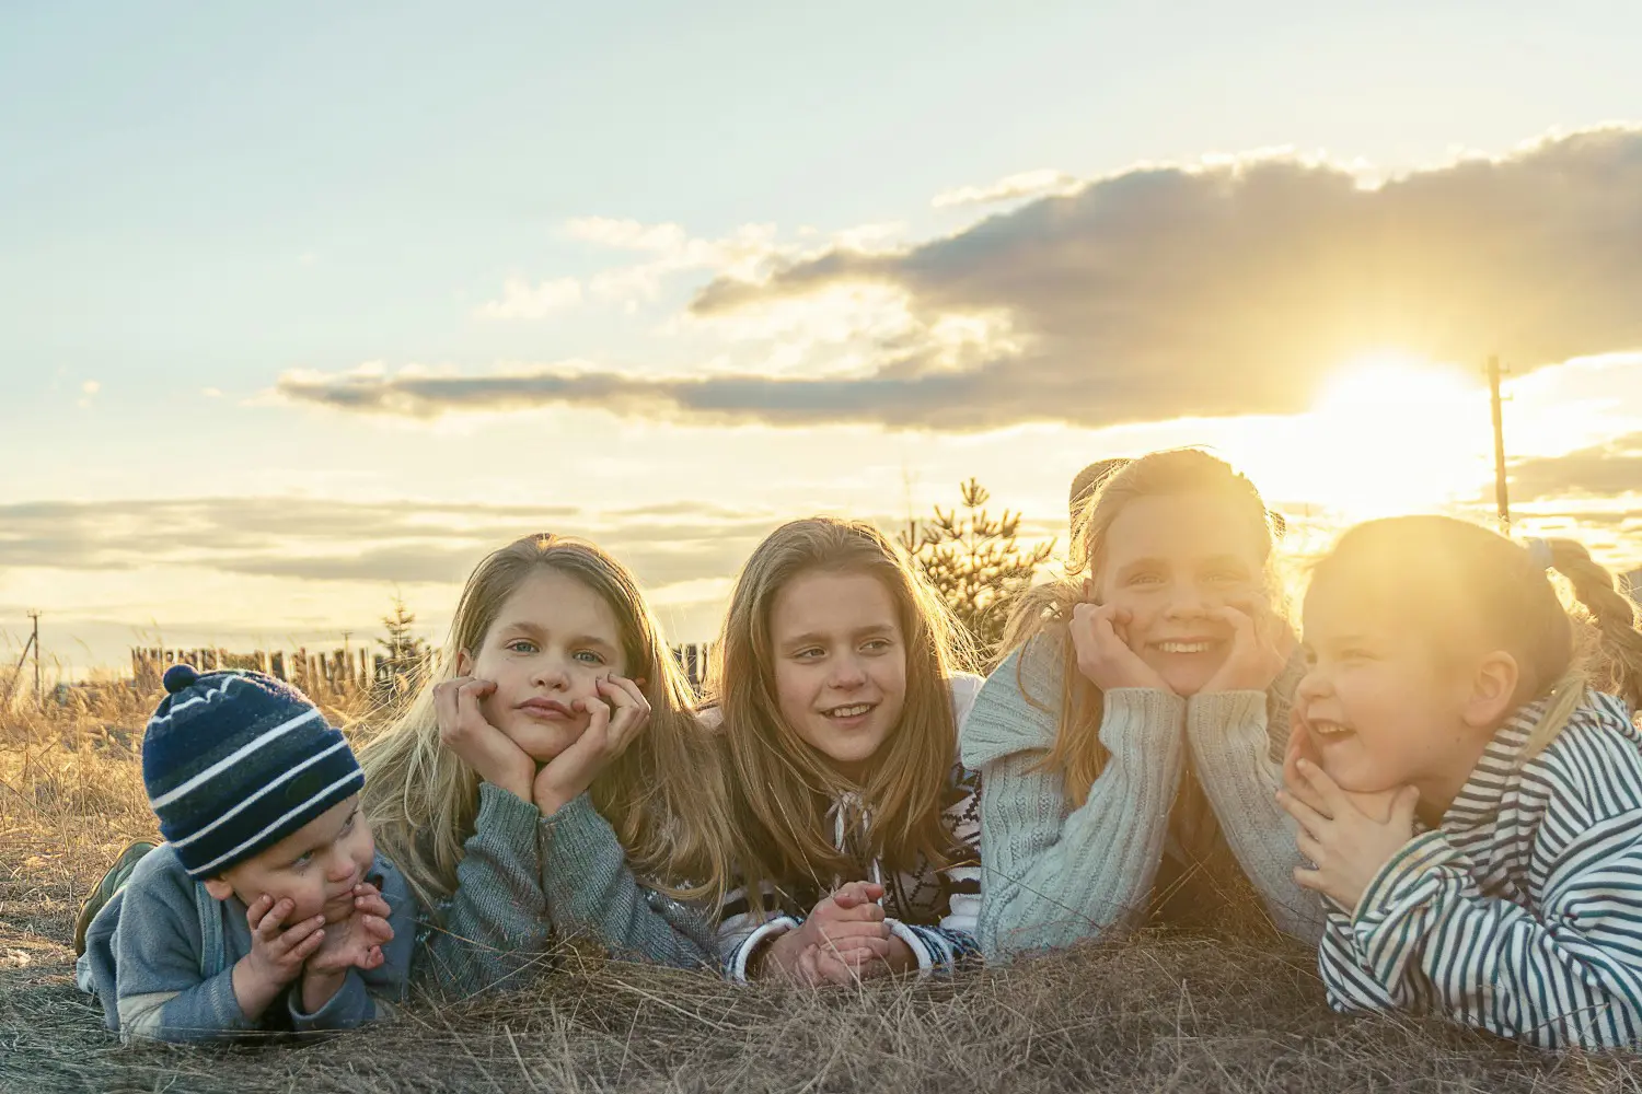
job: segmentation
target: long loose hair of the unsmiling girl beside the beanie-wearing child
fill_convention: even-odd
[[[476,653],[502,604],[527,577],[552,569],[599,595],[621,627],[627,674],[642,679],[650,722],[593,782],[593,804],[616,828],[634,871],[685,899],[721,897],[727,830],[716,810],[721,766],[693,713],[690,684],[634,582],[598,546],[540,533],[491,553],[468,577],[438,664],[409,709],[360,753],[365,814],[376,840],[433,907],[456,886],[463,843],[479,805],[479,776],[440,743],[433,686]]]

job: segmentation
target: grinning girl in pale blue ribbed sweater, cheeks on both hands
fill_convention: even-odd
[[[1072,525],[1066,577],[1018,599],[964,723],[982,951],[1245,905],[1317,938],[1274,797],[1299,664],[1264,502],[1207,453],[1161,451],[1100,477]]]

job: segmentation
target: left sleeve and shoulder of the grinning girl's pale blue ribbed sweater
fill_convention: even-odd
[[[1100,723],[1105,769],[1069,810],[1062,776],[1038,768],[1057,728],[1059,668],[1059,650],[1043,640],[1013,654],[964,725],[964,763],[979,766],[982,784],[979,935],[988,960],[1071,945],[1141,912],[1181,782],[1186,702],[1115,689]]]

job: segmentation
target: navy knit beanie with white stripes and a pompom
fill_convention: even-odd
[[[358,794],[353,750],[296,687],[261,672],[166,671],[143,784],[190,877],[217,877]]]

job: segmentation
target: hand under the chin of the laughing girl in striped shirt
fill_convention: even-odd
[[[1312,869],[1296,866],[1294,881],[1351,912],[1391,856],[1414,838],[1419,792],[1404,786],[1368,795],[1371,800],[1387,802],[1386,817],[1379,820],[1363,812],[1317,764],[1300,759],[1296,766],[1327,812],[1312,809],[1287,791],[1277,794],[1277,800],[1300,825],[1300,855],[1314,864]]]

